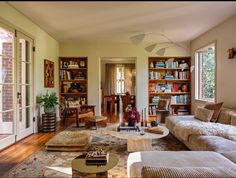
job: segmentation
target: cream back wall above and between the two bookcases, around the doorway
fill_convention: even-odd
[[[130,43],[60,43],[60,56],[88,57],[88,104],[95,104],[96,114],[101,114],[100,99],[100,59],[103,57],[135,57],[137,72],[137,108],[148,108],[148,56],[155,56],[157,51],[147,53],[147,44]],[[168,46],[168,45],[167,45]],[[186,44],[189,47],[189,44]],[[189,56],[189,49],[172,47],[166,49],[165,56]]]

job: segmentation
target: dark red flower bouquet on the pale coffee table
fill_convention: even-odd
[[[128,126],[135,126],[140,122],[140,114],[136,107],[132,107],[130,104],[125,109],[124,120],[128,122]]]

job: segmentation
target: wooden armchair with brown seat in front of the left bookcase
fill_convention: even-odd
[[[79,123],[87,117],[93,117],[95,115],[95,105],[81,105],[78,100],[65,100],[64,101],[64,111],[63,111],[63,124],[65,125],[66,119],[68,117],[76,118],[76,125],[79,127]],[[84,121],[83,121],[84,122]]]

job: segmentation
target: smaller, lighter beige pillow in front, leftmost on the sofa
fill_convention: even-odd
[[[203,107],[197,107],[194,117],[201,121],[210,122],[213,114],[213,110],[209,110]]]

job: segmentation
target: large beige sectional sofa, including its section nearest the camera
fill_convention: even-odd
[[[192,151],[131,153],[128,177],[236,177],[235,110],[220,109],[216,123],[194,115],[169,116],[166,127]]]

